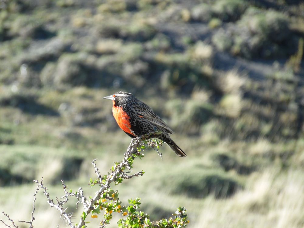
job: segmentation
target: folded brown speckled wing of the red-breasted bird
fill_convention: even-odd
[[[164,121],[162,121],[162,119],[159,116],[157,116],[153,112],[153,110],[145,103],[140,102],[139,104],[137,102],[134,102],[132,106],[137,116],[148,120],[150,123],[156,125],[157,127],[164,128],[166,132],[169,134],[174,133],[174,131],[171,130],[171,128]]]

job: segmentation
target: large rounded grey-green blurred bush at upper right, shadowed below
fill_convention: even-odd
[[[212,42],[219,50],[248,59],[291,55],[296,51],[296,41],[287,16],[254,7],[247,9],[237,25],[230,24],[226,31],[220,29],[212,36]]]

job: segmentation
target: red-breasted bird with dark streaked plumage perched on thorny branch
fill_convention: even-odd
[[[112,100],[113,116],[118,126],[130,137],[136,138],[153,132],[149,138],[158,138],[168,144],[179,157],[187,156],[185,152],[170,138],[173,130],[144,102],[133,94],[116,92],[103,97]]]

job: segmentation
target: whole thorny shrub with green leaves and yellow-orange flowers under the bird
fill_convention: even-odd
[[[133,161],[137,157],[140,159],[144,157],[141,151],[154,148],[158,152],[159,147],[162,145],[161,142],[157,140],[149,139],[150,135],[143,136],[143,138],[135,138],[131,140],[131,143],[124,154],[124,157],[119,162],[114,162],[110,172],[106,175],[101,175],[94,159],[92,164],[95,169],[96,179],[90,178],[89,185],[94,187],[97,185],[97,192],[95,192],[94,196],[85,196],[83,189],[80,187],[76,192],[73,192],[72,189],[67,191],[67,185],[65,185],[64,181],[61,180],[64,196],[56,197],[56,201],[50,198],[49,190],[45,187],[43,183],[43,179],[41,181],[34,180],[37,185],[36,192],[34,193],[34,201],[33,201],[33,212],[30,221],[19,221],[19,223],[28,223],[30,227],[33,227],[34,221],[34,211],[35,211],[35,201],[36,201],[36,194],[37,192],[42,189],[44,196],[47,198],[47,203],[52,207],[57,209],[60,212],[61,216],[64,217],[67,226],[71,228],[85,228],[87,227],[86,224],[89,223],[89,217],[92,219],[97,219],[98,215],[103,214],[103,218],[100,219],[100,225],[98,227],[105,228],[113,218],[112,213],[121,214],[123,218],[119,219],[117,222],[118,227],[148,227],[148,228],[161,228],[161,227],[168,227],[168,228],[182,228],[186,227],[189,221],[187,220],[186,209],[179,207],[177,211],[173,214],[174,218],[169,219],[161,219],[156,222],[152,222],[150,220],[150,216],[143,211],[138,211],[140,208],[140,199],[130,199],[129,205],[123,205],[121,201],[119,201],[119,193],[118,190],[113,190],[110,188],[110,184],[114,183],[118,185],[122,183],[123,180],[130,179],[132,177],[142,176],[144,174],[143,171],[137,172],[135,174],[129,174],[131,168],[133,168]],[[161,154],[159,154],[161,156]],[[74,162],[73,162],[74,163]],[[66,164],[67,167],[70,167],[69,164]],[[79,166],[79,164],[78,164]],[[126,172],[126,170],[129,170]],[[0,169],[0,173],[3,174],[2,170]],[[4,173],[5,174],[5,173]],[[71,221],[71,217],[74,212],[69,213],[66,212],[66,203],[69,199],[75,198],[77,199],[76,209],[82,205],[83,212],[80,216],[79,223],[74,224]],[[76,210],[74,209],[74,211]],[[9,217],[9,215],[2,212],[6,219],[12,224],[12,227],[17,227],[14,221]],[[91,215],[91,216],[90,216]],[[124,217],[126,216],[126,217]],[[3,219],[0,220],[5,226],[8,226],[7,223]]]

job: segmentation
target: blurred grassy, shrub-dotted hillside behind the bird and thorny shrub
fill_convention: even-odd
[[[91,161],[106,174],[130,143],[102,97],[126,91],[188,156],[146,151],[144,176],[113,186],[123,204],[184,206],[192,228],[304,226],[303,1],[1,0],[0,40],[0,211],[15,221],[33,179],[94,194]],[[37,198],[34,226],[64,227]]]

